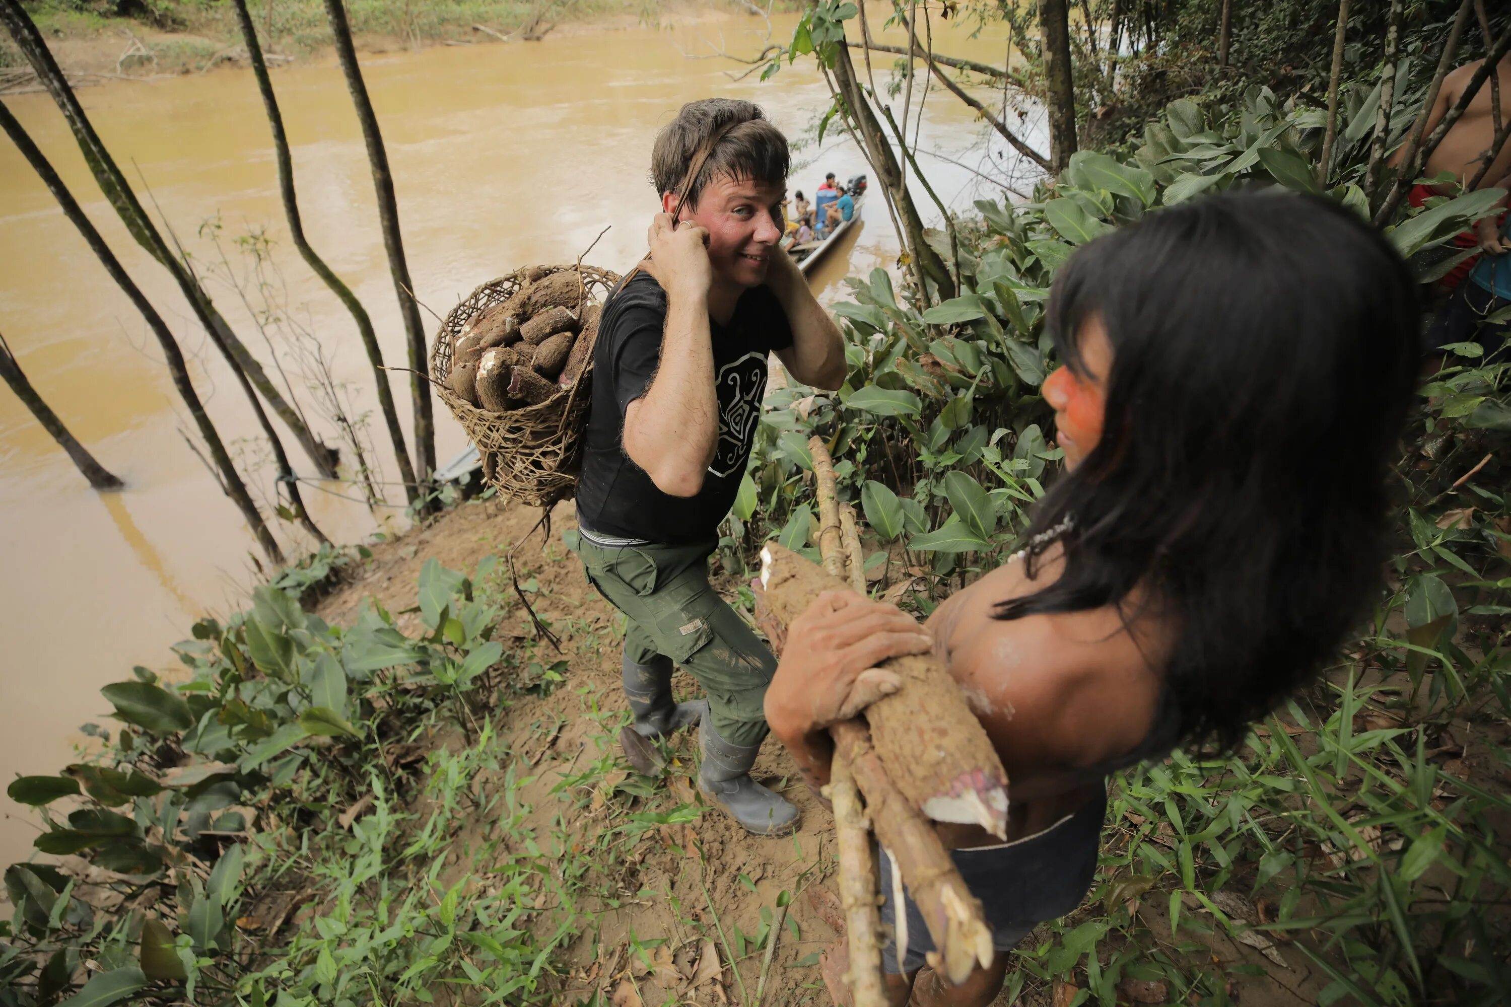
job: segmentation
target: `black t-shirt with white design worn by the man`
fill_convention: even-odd
[[[592,355],[592,412],[577,480],[589,531],[663,545],[713,537],[734,504],[766,393],[766,355],[792,346],[792,328],[766,287],[746,290],[728,325],[710,319],[719,447],[697,497],[672,497],[624,453],[624,411],[651,386],[666,326],[666,291],[636,273],[603,308]]]

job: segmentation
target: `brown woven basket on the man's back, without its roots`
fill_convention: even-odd
[[[547,275],[571,269],[577,269],[583,278],[579,314],[582,306],[603,300],[620,282],[615,273],[592,266],[544,267]],[[570,497],[577,485],[577,460],[592,399],[592,356],[589,355],[588,365],[571,388],[564,388],[539,405],[508,412],[479,409],[446,385],[452,352],[462,329],[474,316],[508,300],[524,287],[526,272],[517,269],[487,282],[452,308],[431,347],[431,379],[452,415],[467,430],[468,439],[477,445],[488,483],[511,500],[548,509]]]

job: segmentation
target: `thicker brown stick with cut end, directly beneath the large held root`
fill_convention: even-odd
[[[855,720],[831,726],[830,734],[834,737],[834,764],[843,759],[866,794],[872,829],[902,871],[908,894],[938,948],[929,953],[929,965],[950,983],[964,983],[978,963],[982,968],[991,965],[991,928],[982,918],[981,901],[966,888],[934,826],[891,784],[878,758],[875,735],[867,737],[866,728]]]

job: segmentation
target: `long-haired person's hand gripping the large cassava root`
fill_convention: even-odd
[[[766,722],[793,747],[898,691],[901,679],[879,663],[932,646],[928,631],[896,605],[827,590],[787,627],[787,646],[766,690]]]

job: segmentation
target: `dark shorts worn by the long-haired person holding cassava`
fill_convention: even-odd
[[[1002,845],[950,850],[970,894],[991,927],[991,947],[1009,951],[1034,927],[1059,919],[1080,906],[1097,873],[1102,820],[1108,812],[1106,791],[1049,829]],[[896,904],[891,898],[891,859],[879,850],[878,886],[882,892],[881,921],[896,935]],[[923,915],[907,894],[902,897],[908,918],[908,950],[898,966],[896,938],[881,950],[885,972],[916,972],[925,954],[934,951]]]

